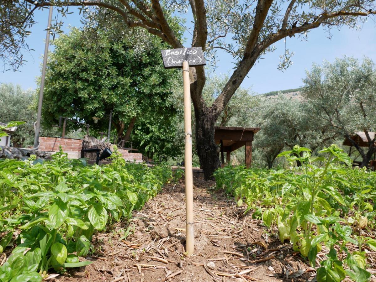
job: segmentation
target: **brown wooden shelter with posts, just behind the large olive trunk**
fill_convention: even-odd
[[[252,141],[255,133],[260,131],[259,127],[215,127],[215,143],[221,145],[221,162],[224,164],[224,152],[226,152],[226,163],[230,161],[232,151],[246,146],[245,163],[247,167],[252,165]]]

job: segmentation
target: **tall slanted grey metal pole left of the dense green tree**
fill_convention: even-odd
[[[44,57],[43,57],[43,66],[42,66],[41,89],[39,91],[38,114],[36,116],[36,128],[35,128],[35,136],[34,136],[34,148],[38,147],[38,145],[39,145],[39,131],[41,129],[41,115],[42,115],[44,78],[45,78],[45,73],[46,73],[48,46],[49,46],[49,43],[50,43],[50,28],[51,28],[52,11],[53,11],[53,6],[50,6],[50,11],[49,11],[49,15],[48,15],[48,23],[47,23],[46,42],[45,42],[45,45],[44,45]]]

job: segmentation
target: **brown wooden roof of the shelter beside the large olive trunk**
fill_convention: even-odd
[[[223,143],[225,152],[232,152],[246,145],[246,141],[253,141],[253,134],[260,131],[259,127],[215,127],[215,143]]]

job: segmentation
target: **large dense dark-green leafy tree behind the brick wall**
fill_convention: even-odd
[[[166,72],[160,64],[159,50],[167,44],[143,29],[128,30],[120,38],[106,30],[73,29],[53,45],[45,80],[44,127],[63,116],[89,124],[91,132],[99,134],[106,132],[112,110],[117,142],[132,140],[135,148],[151,155],[180,153],[179,146],[170,146],[178,113],[170,99],[177,72]],[[82,124],[67,121],[68,129],[77,127]]]

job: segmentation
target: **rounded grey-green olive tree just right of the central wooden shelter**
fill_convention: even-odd
[[[323,144],[330,145],[338,136],[313,119],[310,106],[299,99],[282,94],[276,99],[265,97],[256,110],[261,131],[255,138],[255,148],[260,149],[269,168],[284,149],[299,145],[315,151]]]

